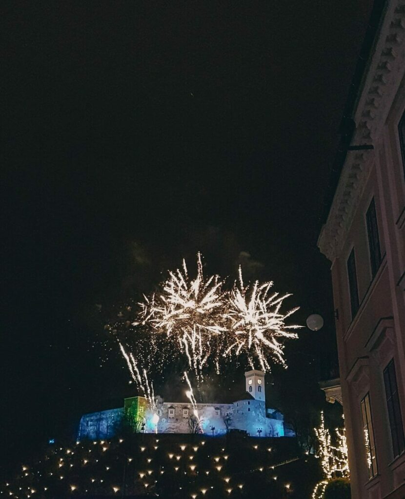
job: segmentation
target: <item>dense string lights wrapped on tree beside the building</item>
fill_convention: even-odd
[[[322,499],[326,486],[331,479],[338,477],[350,478],[348,447],[344,427],[335,429],[334,440],[336,445],[332,444],[331,433],[325,428],[323,411],[321,412],[321,424],[318,428],[314,428],[314,431],[318,441],[316,457],[320,460],[324,480],[315,486],[312,499]]]

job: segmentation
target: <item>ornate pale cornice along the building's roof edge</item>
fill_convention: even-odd
[[[353,113],[351,145],[378,147],[405,71],[405,1],[389,1],[363,76]],[[340,255],[374,162],[373,150],[348,151],[318,247],[331,261]]]

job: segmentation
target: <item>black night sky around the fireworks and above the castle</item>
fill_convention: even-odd
[[[294,375],[302,359],[333,355],[329,262],[316,242],[371,4],[5,7],[8,464],[132,393],[103,321],[183,256],[193,268],[198,250],[207,272],[232,281],[241,263],[292,292],[296,321],[324,316],[322,334],[303,329],[287,352]]]

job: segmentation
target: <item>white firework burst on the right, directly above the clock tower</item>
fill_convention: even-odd
[[[239,283],[235,282],[229,293],[229,308],[226,311],[233,339],[223,355],[238,356],[244,352],[252,369],[255,368],[254,361],[257,359],[263,371],[270,370],[269,357],[286,367],[284,345],[278,338],[297,338],[297,334],[290,330],[301,327],[285,324],[286,318],[298,308],[283,314],[280,310],[283,300],[290,294],[269,295],[272,285],[271,281],[264,284],[256,281],[250,289],[250,286],[244,285],[239,267]]]

